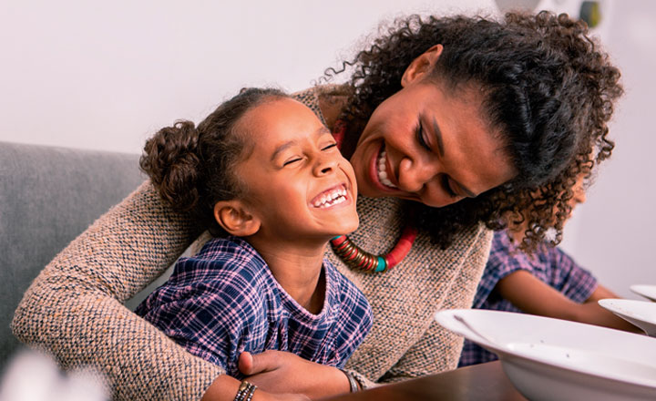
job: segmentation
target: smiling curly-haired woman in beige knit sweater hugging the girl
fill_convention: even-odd
[[[587,33],[583,23],[548,13],[500,22],[410,16],[344,63],[354,68],[348,85],[298,95],[342,139],[363,195],[360,229],[340,245],[351,253],[329,255],[374,310],[371,333],[346,365],[356,386],[456,367],[462,339],[432,316],[471,304],[487,228],[501,228],[502,216],[528,221],[526,249],[548,228],[561,231],[579,171],[610,155],[607,122],[621,93],[620,72]],[[417,230],[416,239],[404,227]],[[231,399],[220,369],[121,305],[200,231],[144,183],[39,275],[16,311],[15,334],[64,365],[97,365],[117,398]],[[376,263],[384,272],[374,274],[347,267],[363,262],[353,260],[354,244],[389,252],[384,259],[398,264]],[[250,381],[260,399],[275,396],[264,390],[349,389],[333,367],[256,356],[245,355],[241,368],[259,373]]]

